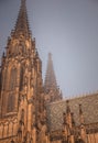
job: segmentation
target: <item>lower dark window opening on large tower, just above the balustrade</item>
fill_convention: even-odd
[[[14,97],[14,95],[9,95],[9,97],[8,97],[8,109],[7,109],[7,111],[8,112],[12,112],[12,111],[14,111],[14,101],[15,101],[15,99],[14,99],[15,97]]]

